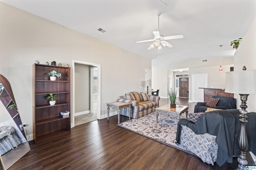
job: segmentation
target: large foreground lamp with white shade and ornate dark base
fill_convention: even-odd
[[[249,94],[256,94],[256,70],[242,70],[234,72],[226,72],[226,89],[227,93],[240,95],[241,109],[240,111],[240,133],[238,137],[238,148],[240,150],[237,158],[239,164],[237,170],[246,170],[248,164],[246,160],[246,151],[248,150],[248,139],[246,135],[246,118],[247,98]]]

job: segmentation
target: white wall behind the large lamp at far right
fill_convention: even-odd
[[[238,37],[239,38],[239,37]],[[246,32],[246,35],[242,37],[242,42],[239,45],[236,53],[234,54],[234,71],[242,70],[243,66],[246,66],[247,70],[256,69],[256,19],[252,22],[252,25]],[[242,80],[238,80],[242,81]],[[255,85],[256,86],[256,85]],[[237,100],[237,108],[240,108],[240,96],[234,95]],[[247,100],[247,111],[256,112],[256,94],[250,94]]]

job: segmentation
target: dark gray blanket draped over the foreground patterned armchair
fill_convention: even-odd
[[[232,163],[233,156],[239,156],[237,145],[240,133],[239,115],[239,109],[228,109],[204,113],[196,123],[187,119],[180,119],[176,135],[177,143],[180,144],[182,129],[180,125],[186,125],[196,134],[209,133],[216,136],[216,143],[219,146],[216,160],[218,166],[222,166],[225,162]],[[246,115],[248,116],[248,123],[246,123],[248,151],[256,153],[256,113],[250,112]]]

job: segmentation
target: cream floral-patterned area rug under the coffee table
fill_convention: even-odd
[[[156,123],[156,112],[152,112],[139,119],[124,121],[117,126],[194,155],[182,145],[176,144],[177,124],[179,119],[186,118],[185,116],[182,114],[179,118],[178,116],[159,113],[158,123]]]

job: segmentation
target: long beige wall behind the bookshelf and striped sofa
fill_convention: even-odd
[[[101,115],[106,103],[140,92],[151,60],[0,2],[0,74],[12,86],[27,133],[32,134],[32,64],[40,60],[72,65],[101,64]],[[132,68],[132,69],[131,69]],[[131,81],[132,80],[132,81]],[[0,107],[0,117],[7,111]],[[31,139],[30,139],[31,140]]]

